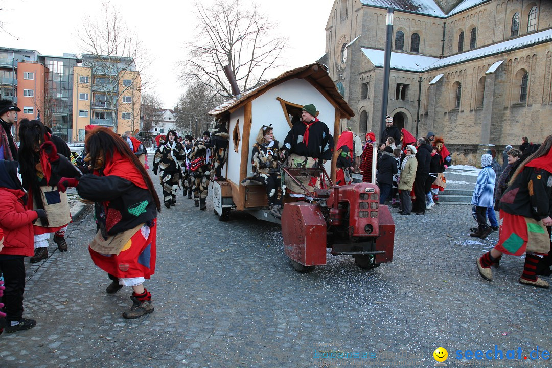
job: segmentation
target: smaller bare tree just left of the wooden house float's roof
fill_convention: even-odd
[[[177,115],[177,126],[182,131],[193,132],[197,137],[201,132],[208,130],[213,121],[209,111],[224,102],[224,99],[213,92],[199,79],[188,86],[185,92],[178,99],[179,109]]]

